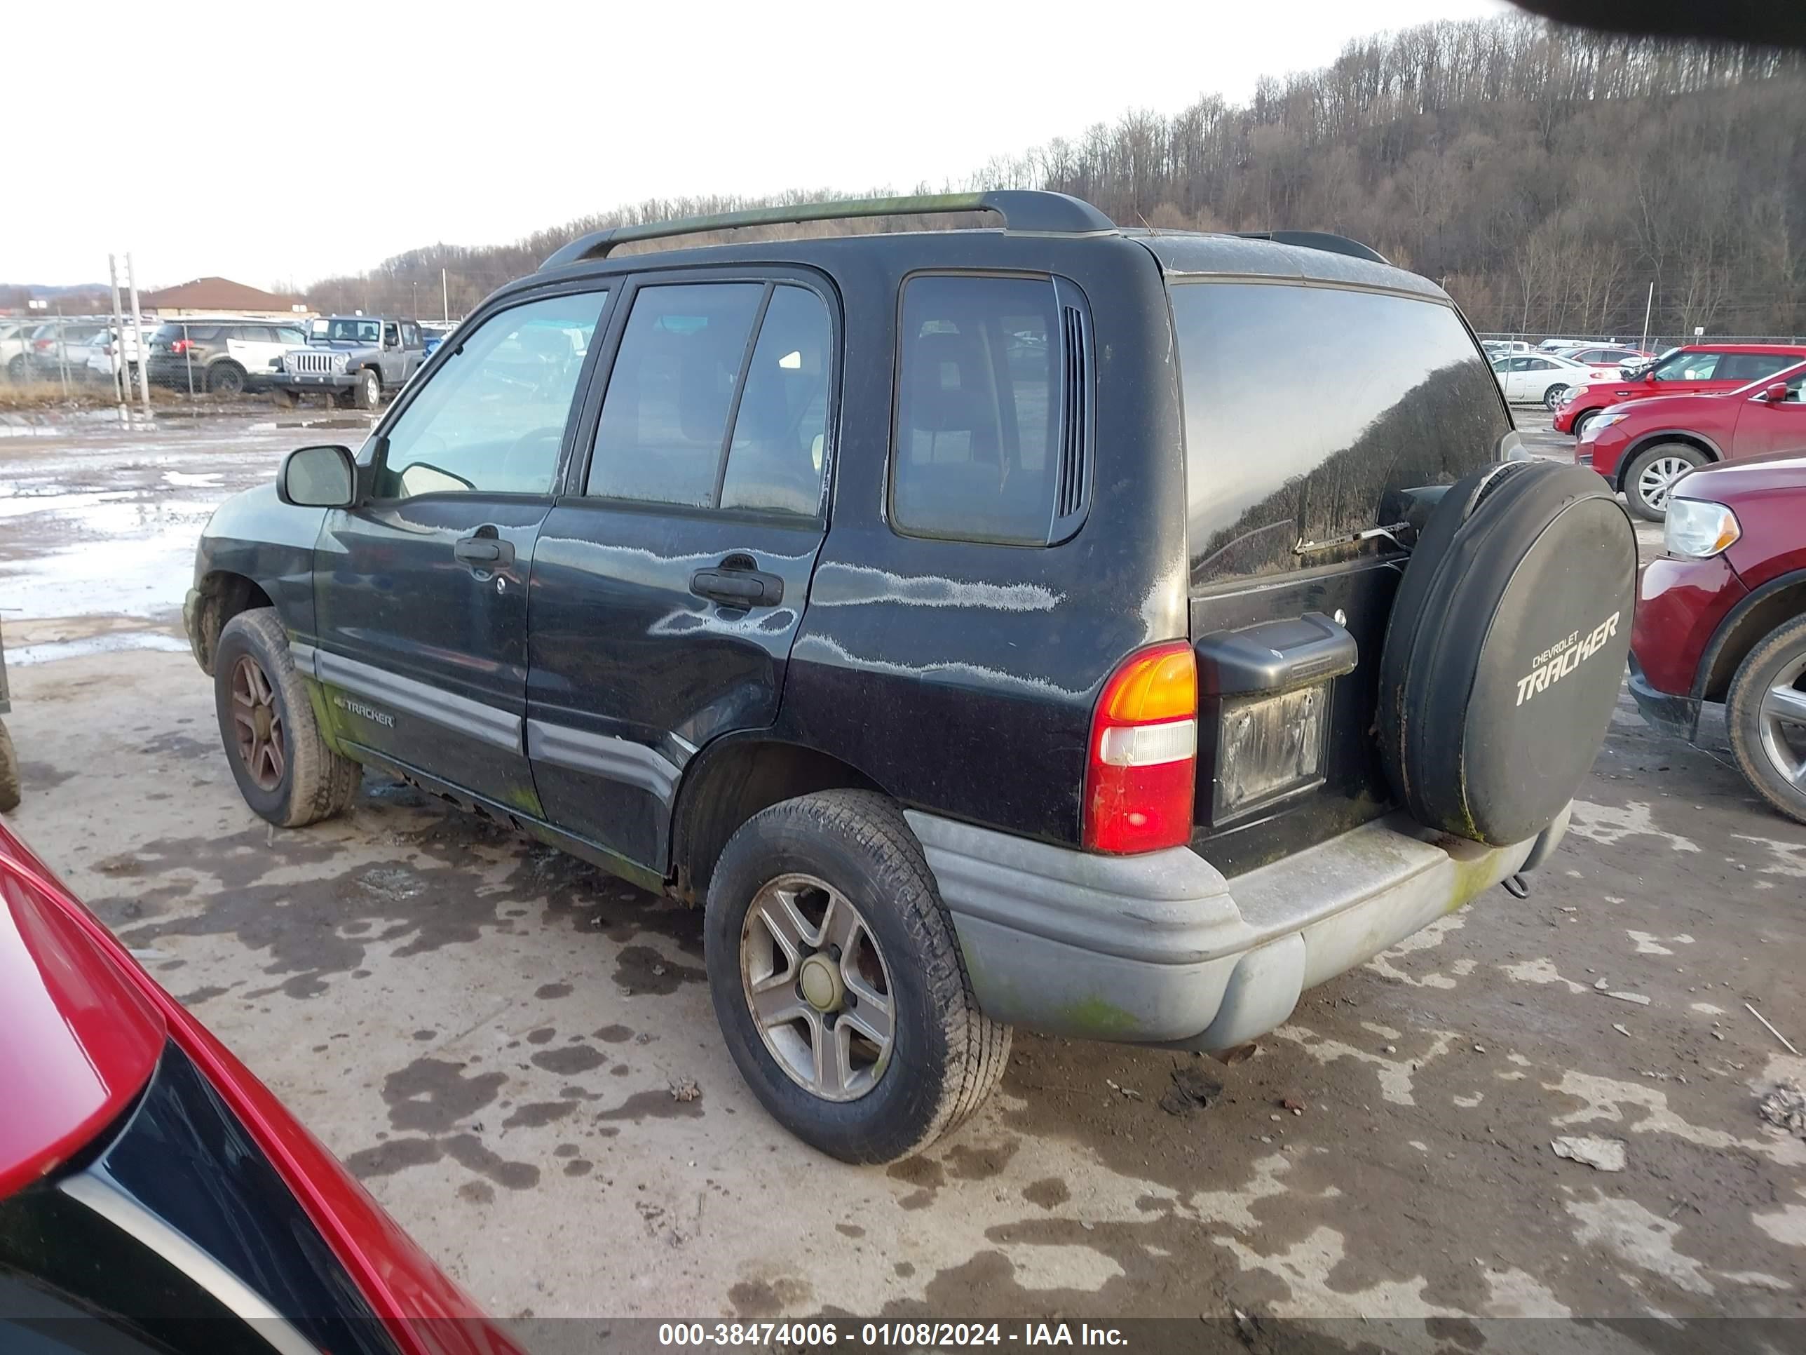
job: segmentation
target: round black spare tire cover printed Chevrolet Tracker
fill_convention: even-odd
[[[1513,461],[1450,486],[1380,658],[1387,779],[1421,824],[1510,846],[1573,799],[1631,647],[1636,531],[1604,479]]]

